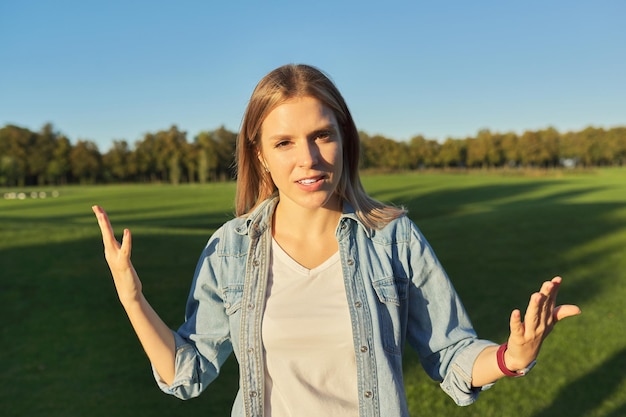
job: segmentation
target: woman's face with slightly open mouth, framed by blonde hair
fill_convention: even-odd
[[[343,169],[342,137],[335,114],[316,98],[287,100],[267,115],[259,160],[283,208],[341,209],[336,189]]]

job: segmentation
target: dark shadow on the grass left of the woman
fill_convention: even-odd
[[[181,216],[170,222],[176,234],[142,232],[143,222],[151,224],[149,216],[129,222],[138,229],[133,262],[144,292],[170,327],[182,323],[209,230],[227,218]],[[61,229],[75,219],[46,222]],[[199,235],[194,224],[206,235]],[[194,232],[181,232],[186,226]],[[234,358],[198,399],[180,401],[160,392],[117,300],[95,218],[84,227],[89,230],[79,235],[92,237],[46,243],[51,236],[44,235],[40,245],[0,251],[2,415],[229,415],[238,386]]]

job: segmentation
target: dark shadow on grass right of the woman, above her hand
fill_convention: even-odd
[[[623,209],[623,203],[569,202],[599,188],[523,197],[545,187],[550,187],[549,181],[432,192],[414,198],[404,195],[406,190],[396,190],[400,196],[394,202],[408,208],[472,319],[487,334],[498,335],[510,311],[525,309],[530,294],[553,276],[564,278],[561,303],[584,305],[611,285],[610,280],[590,276],[588,267],[620,247],[590,249],[576,256],[572,251],[626,227],[623,220],[611,218]],[[442,211],[447,214],[438,214]],[[595,272],[601,276],[601,268]],[[486,300],[490,309],[484,307]]]

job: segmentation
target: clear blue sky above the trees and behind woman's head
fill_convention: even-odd
[[[0,126],[101,151],[176,124],[236,131],[285,63],[396,140],[626,125],[626,2],[0,0]]]

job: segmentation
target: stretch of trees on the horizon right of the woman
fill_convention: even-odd
[[[626,165],[626,127],[588,127],[560,133],[554,128],[516,133],[481,130],[475,137],[448,138],[443,143],[415,136],[396,142],[361,134],[364,166],[416,168],[555,168],[559,166]]]

